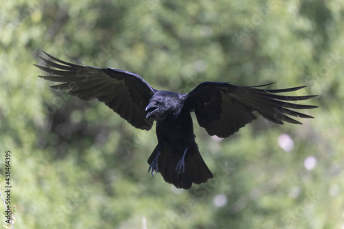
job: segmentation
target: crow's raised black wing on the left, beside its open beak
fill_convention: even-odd
[[[151,129],[153,120],[146,118],[144,109],[156,90],[138,74],[112,68],[76,65],[45,54],[50,57],[51,61],[41,56],[39,58],[48,67],[35,66],[49,73],[49,76],[39,77],[62,83],[51,86],[52,88],[67,89],[69,90],[68,94],[82,100],[96,98],[100,102],[105,102],[105,105],[113,109],[133,127]]]

